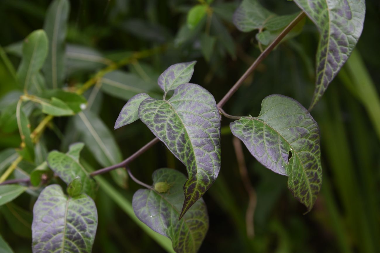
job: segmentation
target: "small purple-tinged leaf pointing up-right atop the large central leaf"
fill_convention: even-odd
[[[173,64],[158,77],[158,85],[165,91],[165,95],[178,85],[190,82],[195,63],[196,61]]]

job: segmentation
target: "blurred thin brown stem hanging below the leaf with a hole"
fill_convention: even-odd
[[[233,137],[233,145],[236,153],[237,165],[239,166],[239,172],[241,181],[243,181],[243,185],[245,190],[248,193],[249,201],[247,212],[245,212],[245,223],[247,226],[247,236],[249,238],[253,238],[255,236],[255,227],[253,224],[253,217],[256,209],[256,191],[252,186],[251,181],[249,180],[247,165],[245,165],[243,148],[241,146],[241,142],[238,138]]]

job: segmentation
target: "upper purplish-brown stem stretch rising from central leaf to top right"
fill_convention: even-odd
[[[298,24],[301,19],[305,17],[305,13],[302,11],[285,29],[275,38],[275,40],[259,55],[259,57],[252,63],[252,65],[245,71],[245,73],[240,77],[239,80],[232,86],[232,88],[227,92],[227,94],[219,101],[218,108],[222,108],[223,105],[231,98],[231,96],[239,89],[245,79],[255,70],[255,68],[263,61],[269,53],[280,43],[280,41],[290,32],[293,27]]]

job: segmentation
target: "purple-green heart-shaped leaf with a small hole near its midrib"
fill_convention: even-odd
[[[257,118],[230,124],[233,135],[270,170],[288,176],[288,189],[310,211],[322,184],[319,128],[296,100],[271,95]]]

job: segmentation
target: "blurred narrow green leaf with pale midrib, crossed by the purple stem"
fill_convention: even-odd
[[[100,165],[108,167],[122,161],[114,136],[95,113],[87,110],[78,113],[74,118],[74,126]],[[123,168],[111,171],[111,176],[120,187],[126,187],[128,174]]]

